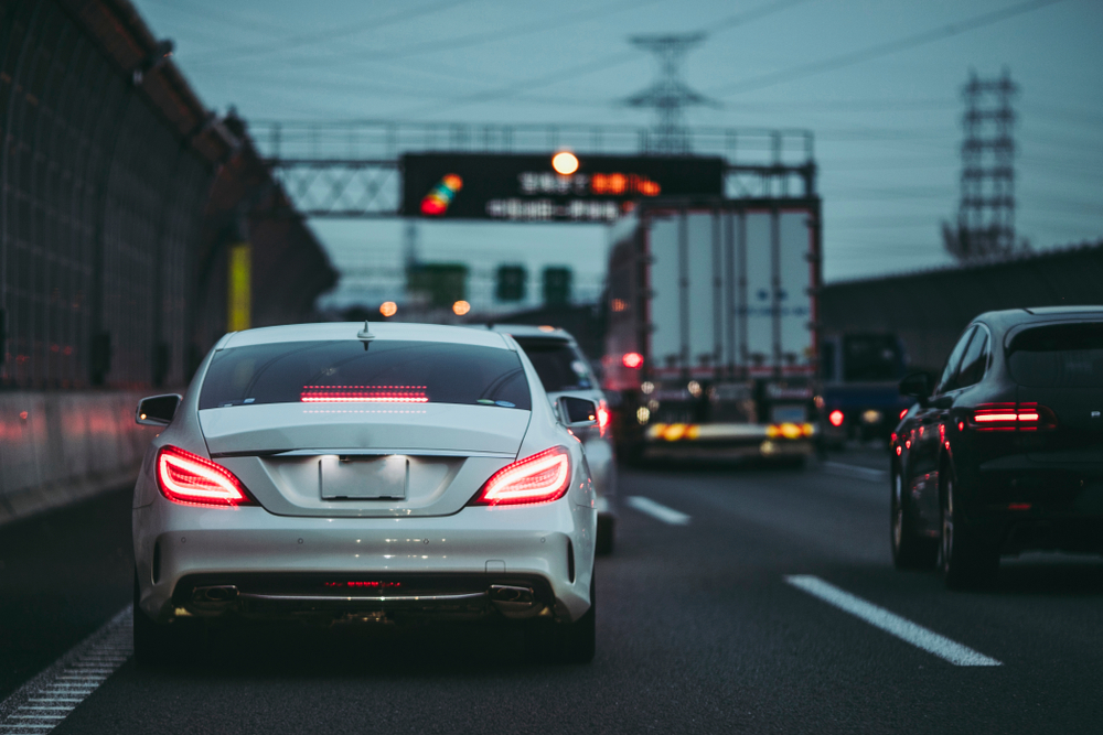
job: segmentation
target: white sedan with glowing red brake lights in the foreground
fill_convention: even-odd
[[[420,324],[228,334],[135,488],[135,653],[235,620],[521,620],[534,651],[595,649],[597,510],[572,429],[508,335]]]

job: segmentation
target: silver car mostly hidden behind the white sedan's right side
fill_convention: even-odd
[[[494,324],[490,328],[517,341],[552,401],[574,396],[598,403],[598,425],[575,433],[586,447],[586,461],[598,496],[598,553],[611,553],[617,529],[617,461],[609,406],[589,359],[565,329],[526,324]]]

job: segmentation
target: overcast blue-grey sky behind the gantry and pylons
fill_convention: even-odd
[[[720,102],[696,126],[815,134],[828,281],[949,262],[961,86],[1019,85],[1017,227],[1036,249],[1103,237],[1103,0],[137,0],[200,98],[247,120],[645,126],[619,104],[654,78],[627,39],[706,31],[685,79]],[[761,12],[758,12],[761,11]],[[1006,12],[1002,12],[1006,11]],[[976,20],[975,20],[976,19]],[[740,22],[741,21],[741,22]],[[868,52],[868,53],[866,53]],[[400,263],[397,221],[313,220],[342,269]],[[421,256],[604,269],[603,227],[432,224]],[[338,299],[397,283],[346,279]],[[478,294],[476,294],[478,295]]]

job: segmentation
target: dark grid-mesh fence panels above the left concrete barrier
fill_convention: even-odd
[[[185,377],[186,250],[214,162],[87,31],[113,10],[92,6],[0,4],[8,387]]]

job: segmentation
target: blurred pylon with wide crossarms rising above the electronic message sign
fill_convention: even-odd
[[[682,61],[686,52],[704,40],[704,33],[636,35],[629,39],[632,44],[653,53],[658,61],[658,77],[655,82],[625,100],[632,107],[655,109],[654,136],[649,141],[649,152],[670,155],[689,153],[685,108],[690,105],[716,104],[682,80]]]

